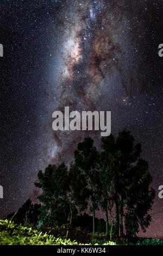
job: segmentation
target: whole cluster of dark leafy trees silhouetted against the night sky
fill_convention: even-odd
[[[105,212],[106,234],[109,214],[115,212],[117,236],[134,236],[140,227],[146,231],[155,196],[150,187],[152,176],[148,163],[140,158],[141,144],[134,144],[130,131],[102,137],[101,151],[85,138],[74,151],[70,168],[64,163],[49,165],[38,173],[35,186],[42,189],[39,218],[48,227],[55,227],[76,219],[79,212],[90,206],[93,233],[95,211]]]

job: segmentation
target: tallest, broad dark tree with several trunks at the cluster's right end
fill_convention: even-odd
[[[151,221],[148,211],[154,198],[154,191],[149,188],[152,176],[149,174],[148,164],[140,159],[141,144],[135,145],[130,131],[124,129],[116,140],[112,136],[103,138],[103,149],[110,156],[106,164],[108,163],[108,170],[111,172],[108,182],[112,184],[116,206],[117,235],[124,235],[123,223],[127,235],[135,235],[139,231],[139,225],[142,230],[148,227]]]

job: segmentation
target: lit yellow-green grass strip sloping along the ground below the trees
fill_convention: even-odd
[[[79,243],[23,227],[9,220],[0,220],[0,245],[118,245],[118,242],[98,241],[98,238],[94,237],[91,243]],[[123,241],[123,245],[163,245],[163,240],[139,238],[135,243]]]

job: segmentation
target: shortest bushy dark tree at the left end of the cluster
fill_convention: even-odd
[[[64,163],[60,166],[51,164],[38,173],[39,182],[36,187],[42,189],[38,197],[43,206],[41,207],[40,218],[48,226],[61,225],[67,222],[69,205],[67,202],[68,173]]]

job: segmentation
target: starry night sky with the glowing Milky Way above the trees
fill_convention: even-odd
[[[39,169],[69,164],[86,136],[99,147],[98,131],[53,131],[55,110],[111,111],[112,134],[126,127],[142,143],[156,191],[145,236],[163,238],[162,7],[163,0],[1,1],[1,217],[36,202]]]

